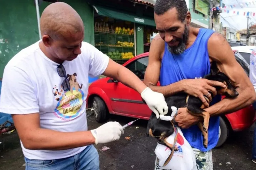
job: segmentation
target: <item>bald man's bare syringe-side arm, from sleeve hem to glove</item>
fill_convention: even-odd
[[[95,138],[90,131],[59,132],[40,128],[39,113],[12,117],[26,149],[65,150],[95,144]]]

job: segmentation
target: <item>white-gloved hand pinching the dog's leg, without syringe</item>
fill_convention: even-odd
[[[168,113],[168,106],[163,94],[155,92],[147,87],[142,91],[141,97],[145,100],[148,107],[156,114],[157,119],[159,118],[159,115],[166,115]]]

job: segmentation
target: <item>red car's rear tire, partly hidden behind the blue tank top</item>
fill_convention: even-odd
[[[219,117],[219,133],[219,140],[215,148],[221,147],[229,135],[228,126],[222,117]]]

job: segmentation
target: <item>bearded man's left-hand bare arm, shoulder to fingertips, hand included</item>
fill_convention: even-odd
[[[145,72],[144,83],[153,91],[162,93],[165,97],[172,96],[178,92],[186,92],[189,95],[199,97],[205,106],[209,106],[204,95],[207,96],[208,91],[212,91],[214,96],[217,94],[216,89],[212,87],[225,85],[221,82],[210,81],[207,79],[185,79],[167,86],[156,86],[159,81],[161,57],[165,51],[165,41],[157,34],[150,46],[148,66]],[[208,96],[212,100],[211,96]]]

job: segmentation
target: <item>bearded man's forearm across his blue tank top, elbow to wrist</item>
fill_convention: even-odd
[[[178,92],[184,91],[182,81],[175,82],[167,86],[148,85],[148,87],[150,87],[153,91],[163,94],[165,97],[172,96]]]

